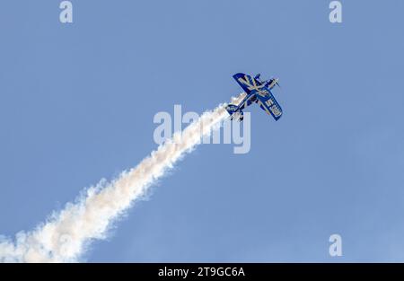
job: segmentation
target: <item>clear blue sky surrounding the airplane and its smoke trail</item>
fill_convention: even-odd
[[[31,230],[156,148],[154,114],[280,78],[251,149],[201,145],[96,241],[96,261],[403,261],[404,3],[3,1],[0,234]],[[329,235],[343,257],[329,256]]]

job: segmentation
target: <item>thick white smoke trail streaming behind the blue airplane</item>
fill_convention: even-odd
[[[233,98],[240,101],[241,94]],[[162,177],[167,169],[200,143],[202,136],[221,123],[228,113],[225,104],[206,111],[171,140],[160,145],[135,168],[123,171],[110,183],[101,181],[84,190],[74,203],[50,215],[47,222],[29,233],[17,233],[15,241],[0,237],[1,262],[74,262],[94,239],[105,238],[113,221]]]

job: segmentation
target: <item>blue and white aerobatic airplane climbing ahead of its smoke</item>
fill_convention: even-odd
[[[278,83],[279,79],[271,78],[266,81],[260,81],[260,74],[251,77],[250,75],[236,74],[233,78],[244,90],[247,95],[244,97],[242,102],[238,105],[229,104],[226,106],[227,112],[230,114],[230,119],[236,119],[239,122],[244,119],[243,112],[246,107],[250,106],[252,102],[258,103],[262,110],[265,110],[269,115],[271,115],[276,121],[282,116],[282,108],[280,107],[277,100],[275,100],[274,95],[271,90],[280,85]]]

